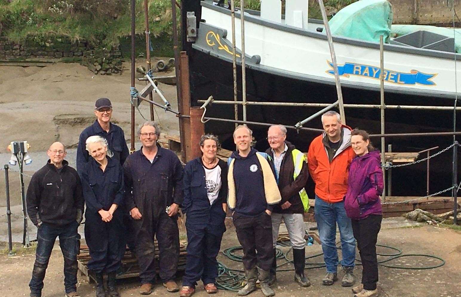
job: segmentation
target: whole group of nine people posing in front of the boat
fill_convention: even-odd
[[[379,152],[365,131],[342,125],[336,112],[322,116],[325,132],[312,141],[307,157],[286,140],[283,125],[268,129],[270,148],[266,152],[251,147],[252,131],[240,125],[233,134],[237,149],[227,162],[217,157],[218,138],[206,134],[198,144],[202,156],[184,168],[173,151],[157,143],[160,127],[155,122],[140,125],[142,147],[129,154],[123,130],[110,121],[109,99],[96,101],[95,116],[96,121],[80,135],[77,170],[64,160],[65,146],[55,142],[47,150],[47,164],[30,181],[27,211],[38,228],[31,297],[41,297],[57,237],[64,256],[66,297],[79,296],[77,227],[83,213],[91,258],[87,266],[95,274],[97,297],[120,296],[115,280],[127,245],[139,264],[140,294],[154,291],[157,272],[166,290],[180,291],[181,297],[193,295],[199,280],[207,293],[216,293],[216,257],[228,209],[243,250],[246,285],[237,292],[239,296],[257,290],[257,280],[265,296],[275,295],[270,286],[277,281],[276,242],[282,221],[293,248],[294,280],[309,286],[303,220],[309,209],[304,189],[309,173],[315,182],[314,213],[326,264],[323,285],[337,280],[338,226],[343,254],[341,285],[354,285],[357,242],[363,274],[361,284],[352,291],[356,297],[378,296],[376,241],[383,190]],[[179,208],[187,218],[188,238],[181,288],[174,281]]]

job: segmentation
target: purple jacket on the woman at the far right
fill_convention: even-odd
[[[355,157],[349,168],[348,190],[344,197],[344,208],[349,218],[365,219],[368,215],[381,215],[383,172],[379,151],[370,151]]]

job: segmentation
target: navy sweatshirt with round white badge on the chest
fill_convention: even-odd
[[[233,170],[236,186],[235,211],[248,217],[258,216],[274,208],[274,205],[266,202],[261,164],[256,152],[252,148],[247,157],[241,157],[238,151],[234,151],[231,155],[231,158],[236,159]]]

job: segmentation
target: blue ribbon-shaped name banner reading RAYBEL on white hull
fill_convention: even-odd
[[[333,63],[331,63],[330,61],[327,61],[327,63],[330,65],[331,69],[327,70],[326,73],[335,75],[335,72],[333,70]],[[354,75],[379,79],[379,76],[381,75],[381,69],[370,65],[346,62],[344,65],[338,65],[338,74],[340,76],[345,77],[349,77],[349,75]],[[437,73],[426,74],[418,70],[410,70],[410,73],[408,73],[385,69],[384,81],[396,83],[399,85],[419,84],[423,86],[435,86],[436,83],[432,82],[431,79],[436,75]]]

